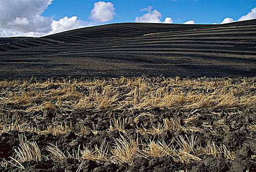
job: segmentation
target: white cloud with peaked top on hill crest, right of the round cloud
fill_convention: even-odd
[[[151,11],[152,6],[148,6],[147,8],[141,9],[141,11],[147,11],[146,14],[143,14],[140,17],[135,18],[135,22],[143,22],[143,23],[161,23],[162,14],[154,9]]]

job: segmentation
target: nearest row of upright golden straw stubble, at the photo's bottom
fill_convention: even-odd
[[[15,149],[14,158],[12,161],[2,161],[1,166],[16,166],[24,169],[23,162],[26,161],[40,161],[42,158],[40,149],[35,142],[29,142],[26,137],[19,136],[20,144],[18,149]],[[126,139],[127,138],[127,139]],[[100,147],[97,145],[94,149],[89,149],[87,146],[83,147],[83,150],[78,146],[78,150],[73,150],[71,153],[63,152],[59,147],[52,143],[47,145],[46,150],[51,153],[51,158],[56,164],[59,164],[63,159],[73,158],[79,162],[83,162],[85,159],[107,162],[110,161],[114,164],[121,165],[127,163],[132,166],[133,160],[138,157],[147,158],[148,156],[164,157],[171,156],[174,161],[181,163],[197,162],[201,160],[204,155],[213,155],[218,157],[219,154],[224,154],[224,158],[227,161],[235,160],[235,152],[229,151],[225,145],[217,146],[214,142],[208,142],[206,147],[195,146],[196,137],[193,135],[188,138],[179,136],[173,138],[172,142],[168,145],[165,142],[151,141],[147,144],[140,144],[138,140],[129,139],[126,136],[120,135],[120,138],[115,140],[113,145],[108,144],[106,140],[102,142]],[[176,145],[176,146],[175,146]],[[47,157],[49,158],[49,157]],[[255,157],[252,157],[254,159]]]

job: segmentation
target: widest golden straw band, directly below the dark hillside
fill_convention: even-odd
[[[108,111],[158,108],[254,108],[254,84],[232,80],[115,78],[85,81],[1,81],[0,107],[20,106],[18,111]],[[252,89],[251,89],[252,90]],[[2,109],[1,108],[1,109]]]

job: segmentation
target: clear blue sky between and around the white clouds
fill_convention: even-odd
[[[238,19],[256,7],[256,0],[103,0],[114,4],[116,16],[111,22],[134,22],[140,11],[147,6],[162,13],[162,19],[171,17],[174,23],[193,20],[197,24],[220,23],[224,18]],[[89,14],[94,0],[54,0],[44,16],[59,20],[64,16],[77,16],[80,20],[90,21]]]

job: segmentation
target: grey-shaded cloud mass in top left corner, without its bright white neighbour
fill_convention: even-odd
[[[41,14],[53,0],[0,0],[0,27],[16,32],[49,32],[52,19]]]

